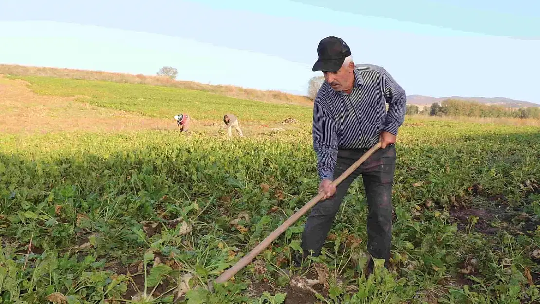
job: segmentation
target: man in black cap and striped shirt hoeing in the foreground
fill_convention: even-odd
[[[368,203],[369,275],[373,271],[372,258],[386,260],[386,267],[390,259],[394,143],[404,120],[406,94],[383,67],[355,65],[349,46],[340,38],[322,39],[317,52],[319,59],[313,71],[322,71],[326,82],[314,100],[313,147],[318,158],[319,192],[325,196],[313,207],[306,222],[303,258],[311,251],[314,256],[320,254],[343,197],[362,174]],[[338,187],[330,185],[379,141],[381,148],[347,179]]]

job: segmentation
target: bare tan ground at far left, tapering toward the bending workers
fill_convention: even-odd
[[[172,120],[150,118],[76,101],[76,97],[41,96],[28,83],[0,75],[0,132],[174,130]]]

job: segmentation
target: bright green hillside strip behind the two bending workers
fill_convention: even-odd
[[[308,106],[258,102],[178,87],[51,77],[10,78],[28,81],[30,89],[38,94],[79,96],[78,100],[92,105],[150,117],[172,118],[177,113],[186,112],[197,120],[218,122],[225,113],[237,114],[241,121],[270,123],[280,122],[287,117],[299,121],[312,119],[312,107]]]

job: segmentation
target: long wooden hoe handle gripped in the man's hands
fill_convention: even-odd
[[[350,173],[353,173],[356,168],[360,167],[360,165],[366,161],[375,151],[379,150],[381,147],[381,143],[377,143],[374,147],[370,148],[366,153],[362,155],[353,165],[351,165],[345,172],[343,172],[337,179],[332,181],[332,185],[338,186],[343,180],[345,180]],[[264,239],[262,242],[259,243],[255,248],[253,248],[248,254],[244,256],[244,258],[240,259],[236,264],[234,264],[231,268],[227,269],[224,273],[222,273],[219,278],[215,279],[214,282],[216,283],[222,283],[227,281],[228,279],[231,279],[233,275],[235,275],[237,272],[240,271],[240,269],[244,268],[249,262],[251,262],[255,256],[257,256],[261,251],[263,251],[272,241],[274,241],[276,238],[278,238],[281,233],[283,233],[289,226],[291,226],[295,221],[297,221],[304,213],[306,213],[309,208],[315,206],[321,198],[323,197],[323,193],[317,194],[312,200],[308,201],[306,205],[304,205],[302,208],[300,208],[299,211],[296,211],[290,218],[288,218],[283,224],[279,225],[278,228],[274,230],[266,239]]]

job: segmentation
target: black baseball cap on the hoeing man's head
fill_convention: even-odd
[[[313,71],[335,72],[343,65],[345,58],[351,55],[347,43],[334,36],[322,39],[317,47],[317,53],[319,60],[313,65]]]

